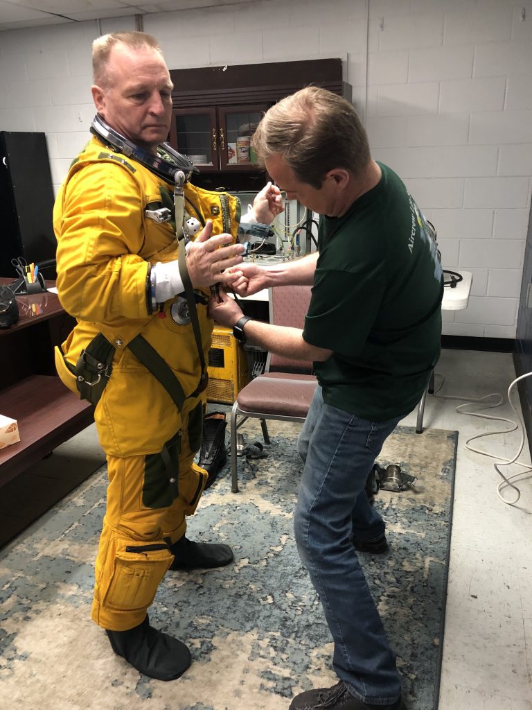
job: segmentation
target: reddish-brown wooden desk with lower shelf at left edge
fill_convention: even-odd
[[[11,281],[0,278],[0,284]],[[17,420],[21,441],[0,449],[0,523],[6,516],[17,517],[13,501],[20,500],[21,487],[32,466],[94,418],[92,405],[68,390],[55,372],[53,347],[65,340],[74,319],[62,309],[55,293],[17,296],[16,300],[18,323],[0,329],[0,414]],[[29,506],[24,501],[26,517],[19,521],[22,528],[81,482],[73,472],[68,481],[70,488],[65,488],[63,480],[54,492],[53,481],[47,479],[45,500],[33,501]],[[26,481],[26,498],[32,490],[35,486],[28,486]],[[0,545],[13,536],[12,526],[5,528],[0,524]]]

